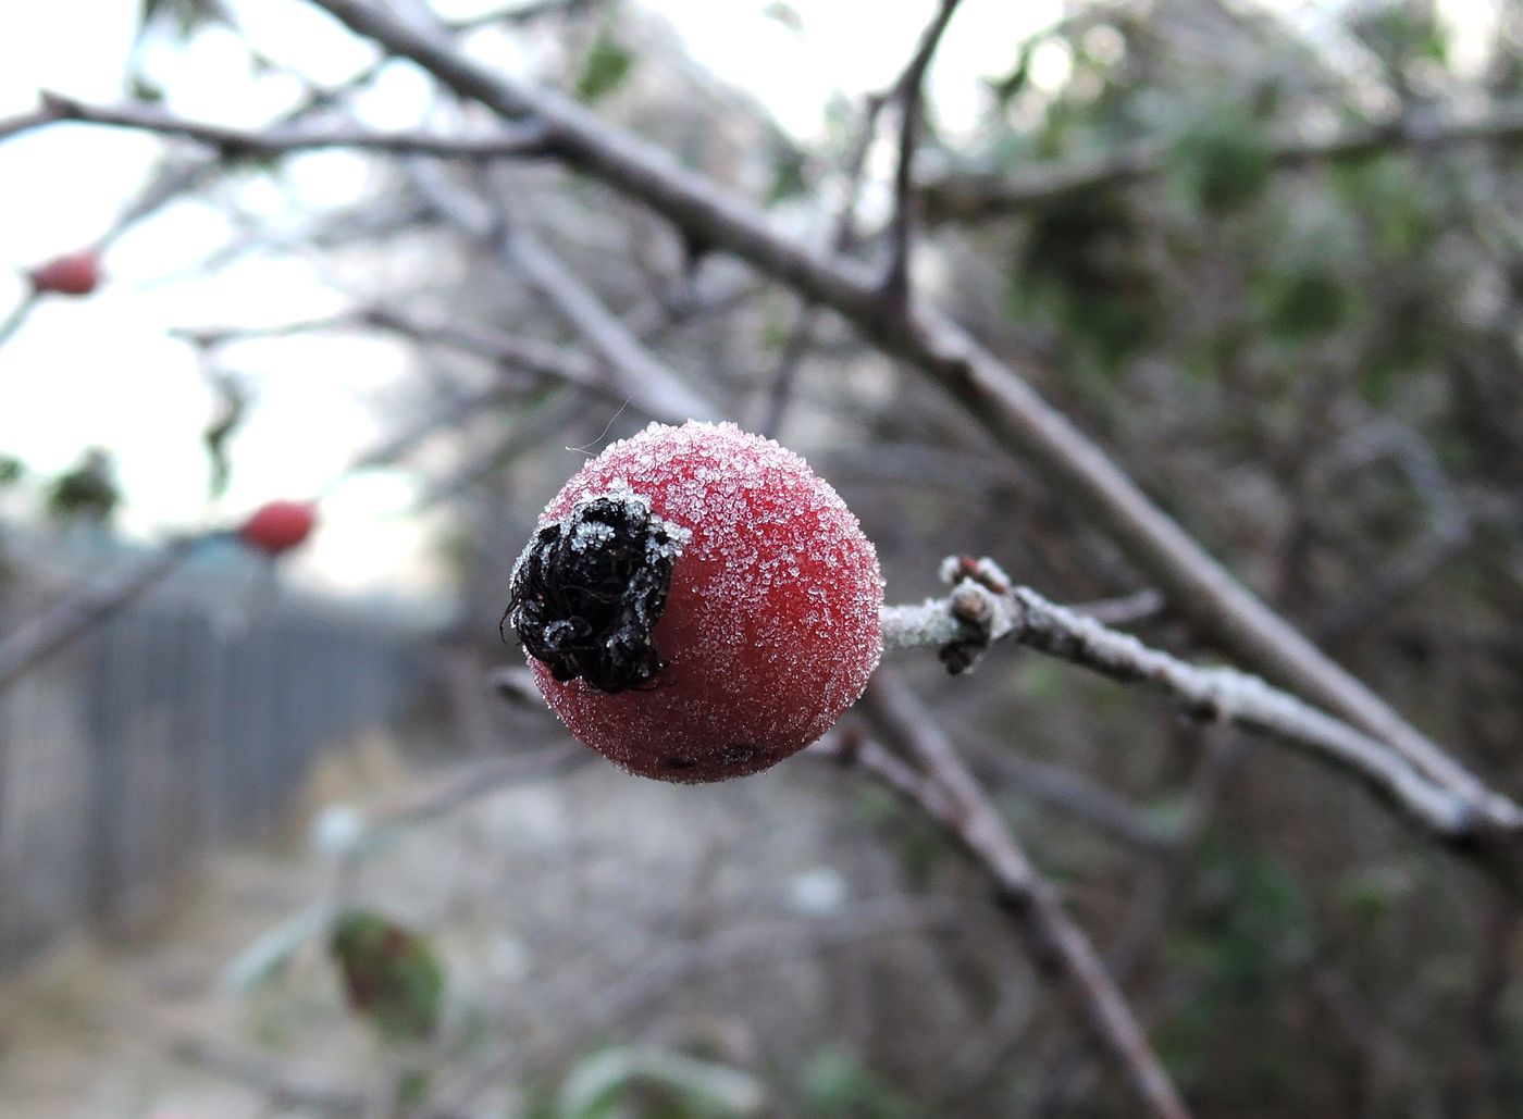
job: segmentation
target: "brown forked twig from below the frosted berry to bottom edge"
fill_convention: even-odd
[[[1095,1043],[1125,1073],[1139,1099],[1153,1114],[1186,1116],[1183,1101],[1089,938],[1027,859],[941,729],[885,671],[873,681],[864,703],[879,731],[915,767],[870,740],[838,737],[812,749],[856,764],[889,786],[973,859],[993,881],[996,901],[1014,920],[1037,971],[1074,997]]]

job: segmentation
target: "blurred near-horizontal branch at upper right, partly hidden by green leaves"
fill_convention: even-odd
[[[1299,167],[1327,160],[1378,155],[1384,151],[1436,151],[1462,143],[1518,143],[1523,105],[1493,105],[1474,116],[1398,119],[1323,137],[1285,134],[1270,140],[1273,167]],[[1022,213],[1087,190],[1103,190],[1154,178],[1168,169],[1176,140],[1141,140],[1094,158],[1037,164],[1011,175],[944,175],[923,183],[928,221],[982,221]]]

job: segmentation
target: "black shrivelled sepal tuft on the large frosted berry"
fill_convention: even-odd
[[[579,501],[518,559],[503,626],[557,681],[646,687],[666,667],[653,630],[685,539],[627,490]]]

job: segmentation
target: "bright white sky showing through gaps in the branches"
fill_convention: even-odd
[[[646,0],[679,29],[694,58],[755,93],[781,123],[818,131],[833,91],[859,97],[882,88],[908,58],[935,0],[793,0],[804,35],[766,18],[765,0]],[[449,0],[466,15],[500,0]],[[1491,0],[1454,0],[1474,38]],[[370,47],[300,0],[233,0],[254,43],[282,62],[337,81],[366,64]],[[35,105],[40,88],[88,100],[119,96],[136,32],[136,0],[38,0],[0,14],[0,116]],[[953,126],[978,111],[979,78],[1008,72],[1020,40],[1051,23],[1060,0],[966,0],[938,55],[932,93]],[[865,15],[870,12],[870,18]],[[1471,18],[1476,17],[1476,18]],[[81,29],[88,29],[82,33]],[[254,123],[295,91],[254,79],[230,33],[209,32],[190,52],[160,49],[151,69],[169,107],[198,117]],[[416,114],[425,82],[399,69],[370,107],[378,117]],[[90,244],[154,166],[160,142],[108,129],[50,128],[0,143],[0,315],[24,291],[20,273]],[[302,157],[294,175],[305,202],[364,196],[362,164],[344,154]],[[254,195],[257,198],[257,195]],[[245,196],[247,198],[247,196]],[[280,199],[271,192],[271,213]],[[405,368],[402,350],[361,340],[270,344],[239,353],[236,368],[257,387],[257,410],[231,446],[233,487],[206,505],[200,434],[213,400],[175,326],[309,318],[346,304],[300,259],[253,260],[221,276],[184,269],[227,236],[215,209],[166,210],[107,256],[111,283],[88,300],[40,306],[0,347],[0,451],[41,472],[101,445],[117,455],[134,533],[230,518],[277,496],[308,496],[378,434],[367,394]],[[299,364],[292,365],[292,359]],[[426,575],[419,525],[404,516],[411,487],[402,472],[346,483],[324,502],[317,547],[302,574],[350,589],[394,586]]]

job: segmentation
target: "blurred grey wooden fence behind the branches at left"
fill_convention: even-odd
[[[326,746],[416,699],[417,624],[200,566],[0,691],[0,970],[152,912],[198,857],[267,828]],[[5,585],[0,635],[67,579],[47,582]]]

